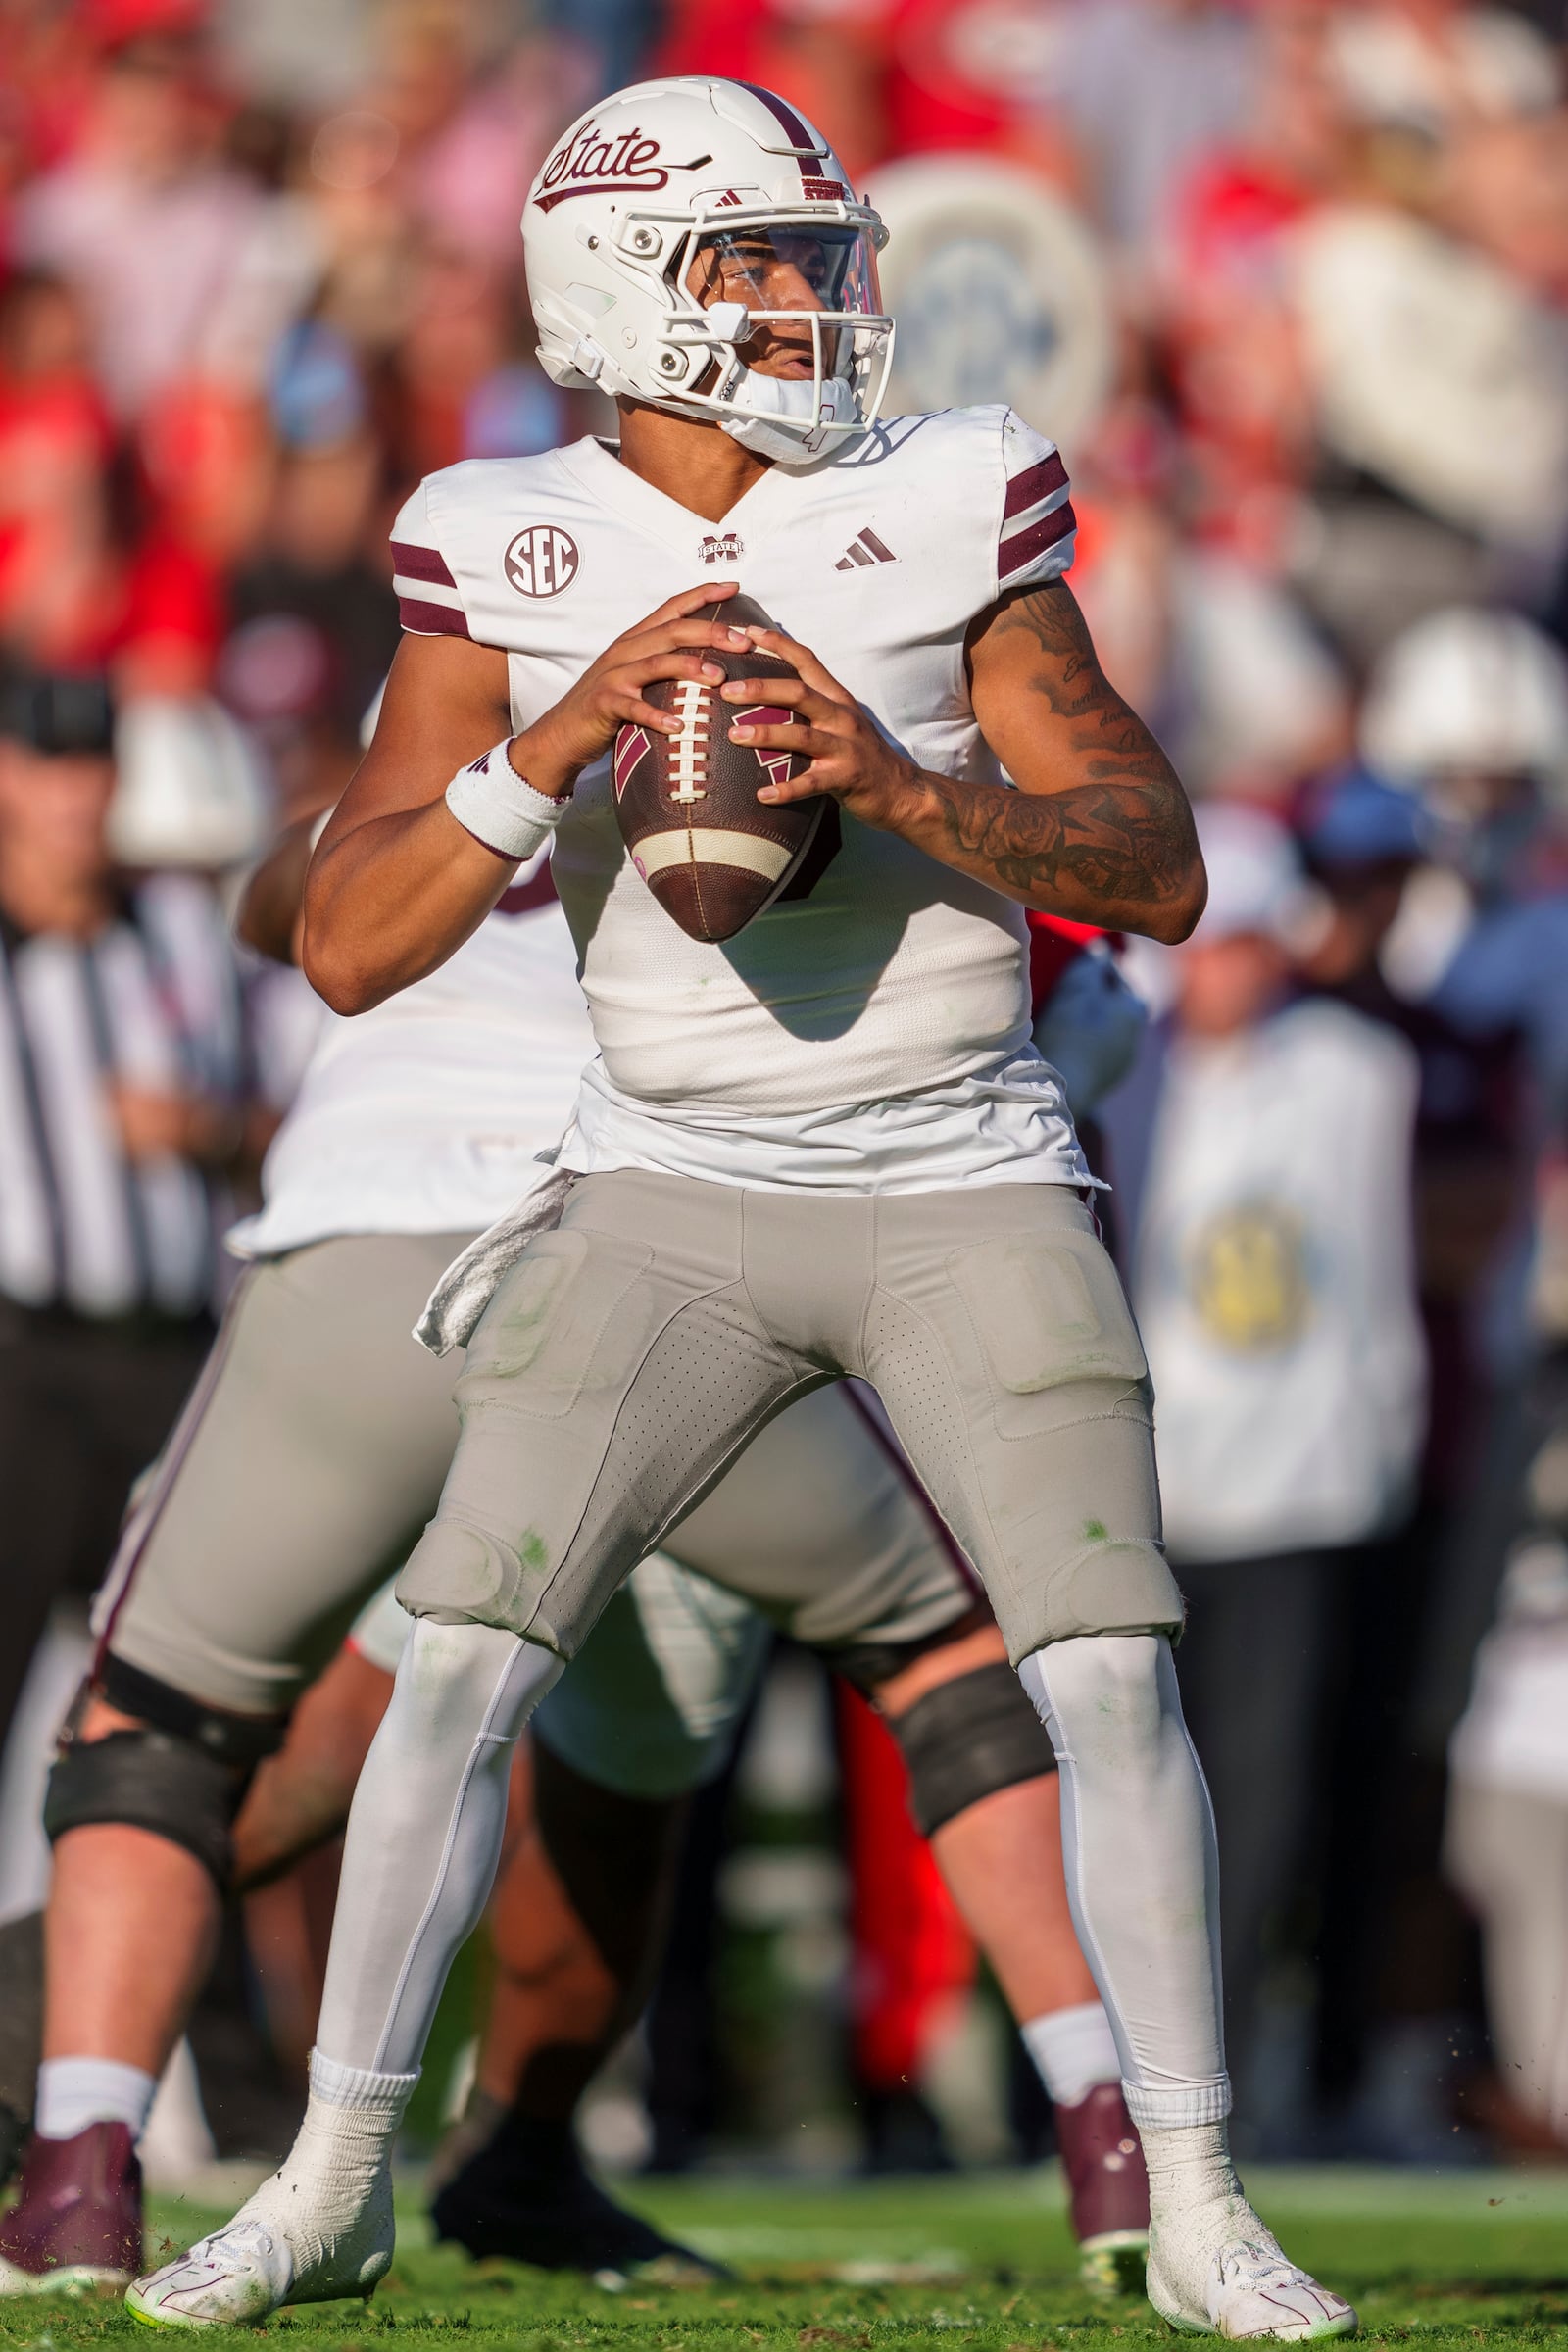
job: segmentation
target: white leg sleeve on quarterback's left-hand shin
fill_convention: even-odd
[[[559,1658],[494,1625],[414,1628],[343,1846],[317,2049],[414,2074],[489,1898],[512,1745]]]

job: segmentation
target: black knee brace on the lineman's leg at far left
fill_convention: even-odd
[[[45,1835],[54,1842],[94,1823],[153,1830],[193,1853],[226,1891],[235,1813],[256,1764],[282,1745],[287,1722],[205,1708],[113,1656],[99,1686],[113,1708],[139,1715],[141,1724],[101,1740],[80,1740],[66,1729],[49,1773]]]

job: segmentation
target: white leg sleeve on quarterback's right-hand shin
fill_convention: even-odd
[[[1053,1642],[1020,1665],[1063,1780],[1072,1924],[1135,2124],[1229,2112],[1220,1867],[1164,1635]]]

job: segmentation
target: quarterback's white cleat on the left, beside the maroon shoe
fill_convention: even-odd
[[[292,2216],[294,2194],[282,2173],[263,2180],[223,2230],[127,2288],[132,2317],[153,2328],[233,2328],[284,2303],[369,2300],[393,2263],[390,2176],[336,2230]]]

